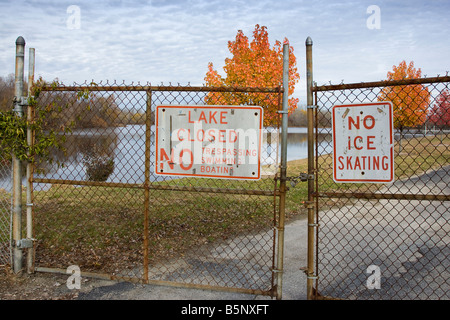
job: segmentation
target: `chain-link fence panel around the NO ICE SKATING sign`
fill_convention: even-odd
[[[316,298],[450,298],[449,81],[313,87]],[[335,183],[331,107],[378,101],[394,106],[395,182]]]

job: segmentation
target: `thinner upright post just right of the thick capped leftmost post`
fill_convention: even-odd
[[[30,48],[29,50],[29,64],[28,64],[28,97],[31,97],[31,88],[34,82],[34,62],[35,62],[35,50],[34,48]],[[34,110],[33,105],[28,104],[27,108],[27,144],[31,147],[34,143],[33,135],[34,132],[31,128],[31,124],[34,120]],[[28,153],[30,155],[30,153]],[[28,161],[27,163],[27,239],[32,241],[33,238],[33,164]],[[34,248],[33,246],[29,246],[27,251],[27,273],[33,273],[33,257],[34,257]]]

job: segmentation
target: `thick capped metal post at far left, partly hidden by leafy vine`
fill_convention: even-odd
[[[16,69],[14,83],[14,112],[19,117],[23,116],[23,77],[25,58],[25,39],[18,37],[16,40]],[[22,238],[22,164],[15,154],[13,158],[13,271],[22,271],[22,248],[19,243]]]

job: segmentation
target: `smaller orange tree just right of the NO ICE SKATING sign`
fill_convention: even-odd
[[[414,68],[414,62],[409,65],[405,61],[393,66],[392,72],[387,73],[387,80],[419,79],[422,77],[420,68]],[[403,129],[416,127],[425,123],[430,104],[430,92],[421,84],[385,87],[379,101],[391,101],[394,106],[394,127]]]

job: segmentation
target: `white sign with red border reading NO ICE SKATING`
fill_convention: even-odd
[[[391,102],[335,105],[332,127],[335,182],[394,181]]]

